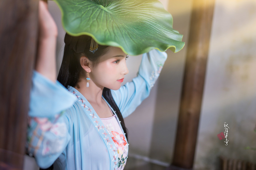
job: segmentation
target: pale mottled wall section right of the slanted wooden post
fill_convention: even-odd
[[[214,169],[218,155],[256,163],[244,149],[256,147],[255,0],[216,0],[203,97],[195,169]]]

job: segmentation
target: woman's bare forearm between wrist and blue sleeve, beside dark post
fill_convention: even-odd
[[[56,73],[56,43],[57,36],[39,38],[38,58],[35,70],[53,82],[57,80]]]

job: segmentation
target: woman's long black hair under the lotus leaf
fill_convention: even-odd
[[[80,57],[86,56],[92,62],[92,67],[97,67],[99,64],[99,59],[102,55],[108,52],[111,46],[98,46],[98,50],[90,52],[92,37],[88,35],[71,36],[68,33],[64,37],[64,53],[63,59],[60,66],[59,74],[57,80],[67,88],[67,86],[76,86],[79,76],[86,78],[86,71],[82,68],[80,64]],[[114,109],[116,115],[121,121],[122,128],[124,130],[125,136],[128,142],[127,128],[124,124],[123,116],[116,105],[111,91],[109,88],[104,87],[102,91],[103,97],[108,101],[110,106]],[[86,96],[85,96],[86,97]]]

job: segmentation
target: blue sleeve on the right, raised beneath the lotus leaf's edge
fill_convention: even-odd
[[[167,59],[166,52],[153,49],[142,55],[137,77],[111,94],[122,116],[129,116],[147,98]]]

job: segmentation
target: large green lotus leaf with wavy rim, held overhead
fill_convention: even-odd
[[[157,0],[54,1],[64,30],[72,36],[89,35],[129,55],[168,48],[176,53],[185,45],[183,35],[173,29],[172,15]]]

